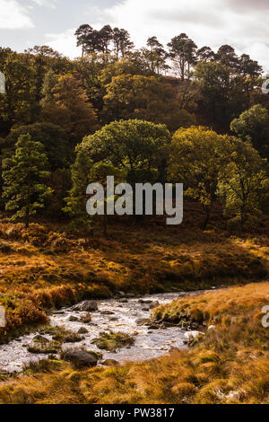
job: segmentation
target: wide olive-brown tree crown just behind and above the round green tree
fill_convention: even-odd
[[[163,123],[169,130],[195,124],[193,115],[180,110],[177,92],[154,76],[119,75],[107,86],[103,119],[144,119]]]

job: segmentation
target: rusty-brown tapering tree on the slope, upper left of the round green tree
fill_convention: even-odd
[[[40,120],[63,127],[74,144],[99,128],[95,110],[80,82],[69,74],[59,76],[53,101],[43,105]]]

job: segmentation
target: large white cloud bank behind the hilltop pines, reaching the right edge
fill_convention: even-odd
[[[108,7],[82,8],[81,23],[97,29],[107,23],[125,28],[137,48],[152,35],[166,45],[172,37],[186,32],[198,47],[208,45],[217,50],[222,44],[230,44],[238,54],[251,54],[269,70],[268,8],[268,0],[120,0]],[[75,48],[73,34],[74,30],[48,34],[50,45],[77,57],[80,50]]]

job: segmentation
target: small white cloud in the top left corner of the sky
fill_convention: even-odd
[[[28,11],[17,0],[0,0],[0,29],[17,30],[34,27]]]

